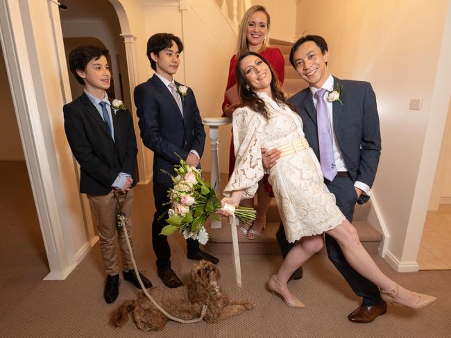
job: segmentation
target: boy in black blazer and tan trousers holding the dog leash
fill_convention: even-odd
[[[78,46],[69,54],[69,67],[85,87],[83,94],[65,105],[65,132],[74,157],[80,164],[80,193],[94,206],[98,220],[100,251],[107,274],[103,298],[112,303],[119,294],[119,268],[114,229],[119,205],[126,213],[126,229],[132,242],[133,186],[135,181],[136,139],[128,109],[114,109],[106,89],[110,87],[108,49]],[[119,205],[118,205],[119,204]],[[117,230],[126,281],[141,289],[133,269],[123,230]],[[139,273],[144,287],[152,287]]]

